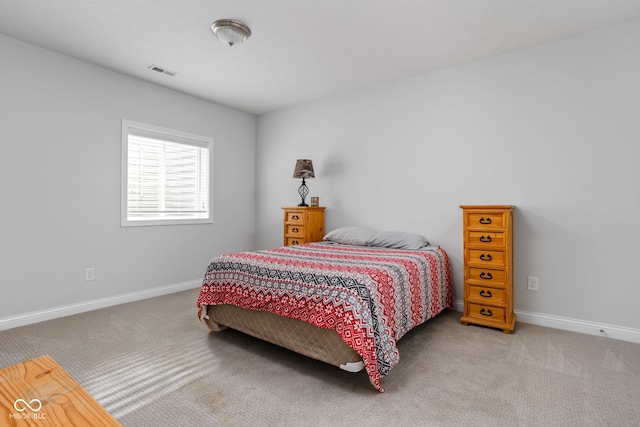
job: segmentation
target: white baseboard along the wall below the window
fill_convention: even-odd
[[[0,318],[0,331],[16,328],[18,326],[30,325],[32,323],[44,322],[45,320],[56,319],[58,317],[70,316],[72,314],[84,313],[86,311],[111,307],[118,304],[140,301],[143,299],[158,297],[161,295],[173,294],[180,291],[195,289],[202,286],[202,280],[192,280],[189,282],[177,283],[159,288],[146,289],[144,291],[131,292],[112,297],[100,298],[91,301],[84,301],[76,304],[54,307],[42,311],[36,311],[18,316]],[[195,301],[194,301],[195,307]]]

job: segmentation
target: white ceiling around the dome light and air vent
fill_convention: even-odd
[[[253,114],[639,17],[640,0],[0,0],[0,33]],[[225,46],[221,18],[253,35]]]

